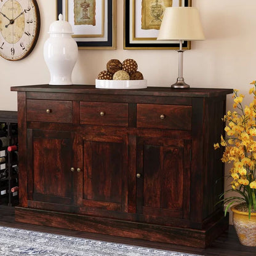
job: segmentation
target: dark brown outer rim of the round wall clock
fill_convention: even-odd
[[[20,4],[20,1],[21,1],[21,0],[15,0],[15,1],[17,1],[17,2]],[[34,4],[34,12],[35,12],[35,14],[36,14],[36,20],[37,20],[37,22],[36,22],[36,31],[35,31],[35,33],[34,33],[33,42],[31,43],[31,46],[30,46],[30,48],[26,51],[26,53],[25,53],[24,55],[22,55],[21,57],[19,57],[19,58],[15,58],[15,59],[13,59],[13,58],[7,58],[7,57],[2,56],[2,55],[0,54],[0,56],[1,56],[2,58],[4,58],[5,60],[10,60],[10,61],[12,61],[12,62],[15,62],[15,61],[17,61],[17,60],[22,60],[23,58],[28,57],[28,55],[31,54],[32,50],[33,50],[34,47],[36,46],[36,42],[38,41],[39,33],[40,33],[40,28],[41,28],[41,17],[40,17],[40,11],[39,11],[39,7],[38,7],[38,2],[37,2],[36,0],[30,0],[30,1],[33,2],[33,4]]]

